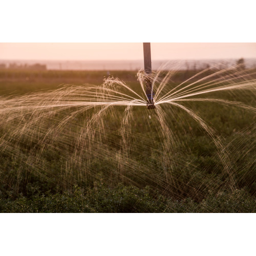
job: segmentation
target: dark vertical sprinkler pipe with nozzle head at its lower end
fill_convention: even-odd
[[[145,73],[150,76],[152,73],[150,42],[143,42],[143,52],[144,52],[144,70],[145,70]],[[146,97],[147,97],[146,108],[148,110],[152,110],[156,108],[154,104],[154,95],[155,94],[152,89],[152,81],[148,77],[146,78]]]

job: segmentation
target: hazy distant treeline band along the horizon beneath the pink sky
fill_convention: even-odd
[[[153,70],[226,69],[239,65],[241,69],[256,68],[256,58],[206,60],[153,60]],[[144,69],[142,60],[0,60],[0,69],[9,70],[80,70],[80,71],[138,71]]]

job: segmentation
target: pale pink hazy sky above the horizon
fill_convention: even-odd
[[[152,59],[256,58],[256,43],[153,42]],[[142,43],[2,42],[0,59],[132,60],[143,59]]]

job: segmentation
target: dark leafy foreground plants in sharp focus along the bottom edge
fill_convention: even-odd
[[[39,187],[27,185],[26,196],[0,198],[1,212],[256,212],[255,198],[245,190],[209,194],[201,202],[190,198],[166,198],[150,187],[95,183],[93,188],[74,187],[72,193],[42,194]]]

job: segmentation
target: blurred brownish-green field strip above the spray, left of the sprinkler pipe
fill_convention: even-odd
[[[136,72],[129,71],[60,71],[60,70],[8,70],[0,69],[0,95],[25,94],[38,90],[58,89],[63,84],[101,84],[109,75],[136,82]]]

